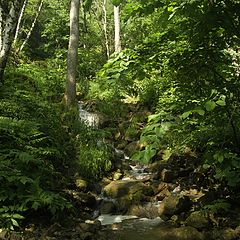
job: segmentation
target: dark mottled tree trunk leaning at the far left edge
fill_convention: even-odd
[[[22,0],[0,1],[0,83],[14,39]]]

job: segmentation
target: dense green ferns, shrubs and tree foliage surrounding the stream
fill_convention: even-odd
[[[76,106],[62,104],[68,2],[45,1],[18,52],[37,6],[29,0],[12,46],[0,87],[0,226],[13,229],[36,210],[54,217],[71,211],[63,189],[76,173],[97,180],[111,169],[105,140],[128,117],[129,105],[151,112],[148,121],[141,116],[146,124],[140,133],[142,120],[132,116],[125,129],[140,137],[133,159],[193,158],[206,178],[239,197],[239,1],[113,2],[121,9],[120,53],[113,53],[113,7],[107,2],[109,60],[102,1],[83,1],[77,96],[110,120],[105,129],[86,127]]]

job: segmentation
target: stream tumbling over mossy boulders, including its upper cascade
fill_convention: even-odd
[[[79,102],[79,118],[87,126],[98,128],[97,114],[87,111],[82,102]],[[166,165],[158,172],[160,175],[154,177],[159,166],[154,170],[148,165],[132,163],[119,149],[115,152],[121,156],[121,164],[129,165],[129,169],[103,184],[102,193],[97,197],[98,207],[93,213],[108,240],[205,239],[204,233],[198,231],[191,220],[188,225],[179,221],[179,213],[191,209],[191,198],[201,197],[198,191],[186,191],[171,183],[174,173]],[[170,217],[164,221],[160,216]],[[207,227],[209,221],[201,216],[200,219]]]

